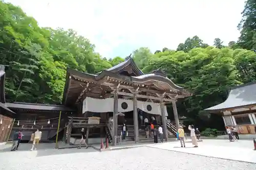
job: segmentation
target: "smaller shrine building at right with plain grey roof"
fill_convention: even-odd
[[[255,134],[256,82],[232,87],[225,102],[205,110],[221,114],[226,128],[235,126],[240,134]]]

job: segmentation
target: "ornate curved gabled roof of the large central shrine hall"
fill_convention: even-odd
[[[127,74],[123,74],[125,71],[129,76]],[[107,86],[109,86],[111,83],[113,84],[116,82],[121,82],[121,85],[124,86],[141,86],[142,89],[155,90],[161,93],[172,93],[172,95],[177,95],[179,93],[179,95],[182,97],[192,95],[183,87],[177,86],[174,82],[172,82],[172,80],[168,79],[164,72],[161,72],[160,70],[154,70],[150,74],[144,75],[143,72],[136,66],[132,58],[129,58],[112,68],[103,70],[96,75],[68,68],[62,104],[66,104],[68,98],[72,98],[73,100],[73,98],[79,95],[84,89],[84,87],[81,87],[81,84],[80,86],[79,83],[76,85],[77,83],[72,81],[72,79],[82,82],[93,82],[95,84],[103,85],[105,88],[108,88]],[[69,93],[70,89],[76,89],[76,92],[73,92],[72,95]],[[109,90],[110,89],[106,91],[109,92]],[[76,98],[78,99],[78,96]]]

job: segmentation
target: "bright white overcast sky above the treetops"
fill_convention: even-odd
[[[187,37],[224,44],[239,37],[244,0],[8,0],[41,27],[74,29],[102,57],[126,57],[141,46],[176,50]]]

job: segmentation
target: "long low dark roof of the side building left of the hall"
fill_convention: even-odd
[[[11,109],[30,109],[30,110],[47,110],[47,111],[65,111],[65,112],[74,112],[73,109],[70,109],[62,105],[45,105],[45,104],[34,104],[34,103],[6,103],[6,106]]]

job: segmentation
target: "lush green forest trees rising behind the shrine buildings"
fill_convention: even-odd
[[[230,87],[256,80],[255,10],[256,3],[246,1],[238,23],[241,36],[228,46],[218,37],[210,46],[191,35],[177,49],[151,52],[140,47],[131,52],[132,57],[144,73],[161,67],[174,83],[194,93],[177,104],[188,123],[221,129],[221,117],[202,110],[225,101]],[[94,49],[76,31],[41,28],[22,9],[0,2],[0,64],[9,65],[8,102],[60,104],[67,67],[96,73],[125,60],[125,56],[107,60]],[[168,112],[172,115],[171,106]]]

